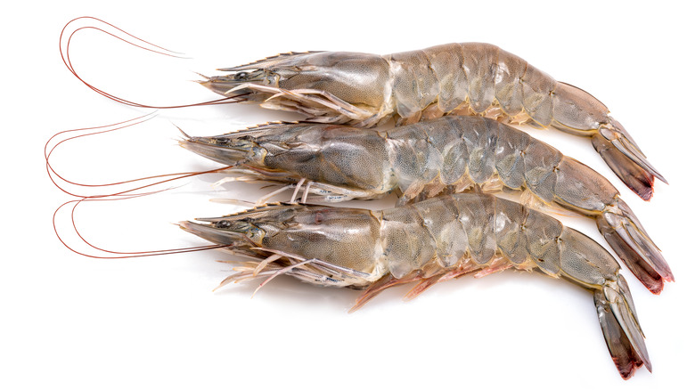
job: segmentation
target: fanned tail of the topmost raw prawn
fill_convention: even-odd
[[[592,137],[593,148],[601,154],[610,169],[630,190],[644,200],[654,194],[654,178],[666,182],[666,178],[647,161],[642,150],[615,119],[602,126]]]

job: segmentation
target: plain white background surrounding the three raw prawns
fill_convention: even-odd
[[[3,12],[0,387],[686,386],[695,347],[693,7],[667,1],[404,3],[63,1],[25,2],[15,4],[20,11]],[[51,217],[71,198],[48,180],[45,142],[61,130],[151,112],[97,95],[62,64],[61,28],[83,15],[192,57],[145,53],[94,30],[76,35],[71,53],[83,77],[155,105],[214,99],[188,81],[197,78],[193,71],[211,73],[274,53],[397,53],[468,41],[499,45],[593,93],[669,180],[656,184],[650,202],[619,183],[588,140],[530,132],[608,177],[671,264],[677,281],[660,296],[624,272],[654,372],[642,369],[624,382],[591,295],[539,274],[462,278],[407,303],[400,298],[407,288],[393,288],[348,314],[358,292],[289,278],[274,280],[253,299],[258,283],[213,293],[230,272],[215,261],[226,256],[219,252],[119,260],[70,252],[56,239]],[[218,134],[292,118],[249,106],[160,110],[141,126],[67,143],[53,164],[82,183],[212,168],[176,146],[172,123],[190,134]],[[76,220],[88,240],[110,250],[201,245],[172,223],[233,210],[208,199],[254,200],[260,193],[243,183],[213,189],[220,177],[190,179],[143,199],[83,204]],[[70,234],[68,216],[59,215],[58,229],[84,249]],[[566,221],[605,245],[591,221]]]

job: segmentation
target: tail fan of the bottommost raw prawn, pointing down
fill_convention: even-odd
[[[593,302],[603,337],[620,376],[628,379],[642,365],[651,372],[649,353],[626,280],[618,275],[617,282],[609,282],[595,290]]]

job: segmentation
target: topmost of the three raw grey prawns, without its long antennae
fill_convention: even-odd
[[[591,94],[554,80],[495,45],[466,43],[376,55],[286,53],[219,69],[200,81],[234,102],[297,111],[309,120],[372,127],[446,115],[482,115],[592,138],[609,167],[642,199],[664,176]]]

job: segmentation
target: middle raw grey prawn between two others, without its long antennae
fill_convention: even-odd
[[[475,188],[525,190],[543,204],[594,218],[610,247],[651,292],[658,294],[665,280],[674,280],[658,247],[606,178],[493,119],[444,117],[388,131],[274,123],[220,136],[185,136],[180,144],[231,166],[227,172],[241,179],[289,182],[295,193],[307,183],[302,202],[374,199],[397,191],[403,205]]]

